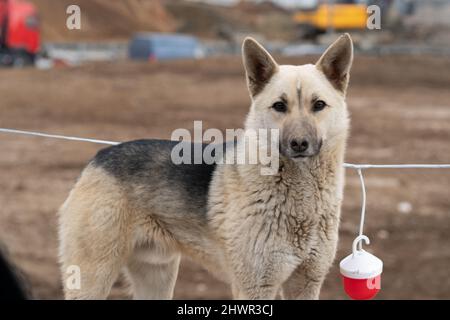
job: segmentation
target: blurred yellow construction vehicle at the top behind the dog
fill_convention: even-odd
[[[314,38],[327,30],[364,30],[367,5],[357,0],[317,1],[312,8],[297,11],[293,19],[302,38]]]

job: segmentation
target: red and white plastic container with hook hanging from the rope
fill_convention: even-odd
[[[356,237],[352,246],[353,253],[339,264],[344,290],[354,300],[372,299],[381,289],[383,262],[363,249],[357,250],[357,245],[362,240],[366,244],[370,243],[365,235]]]

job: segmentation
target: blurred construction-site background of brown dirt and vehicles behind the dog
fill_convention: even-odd
[[[80,29],[69,29],[69,5]],[[380,29],[367,8],[381,9]],[[356,58],[347,162],[450,163],[450,1],[0,0],[0,127],[105,140],[239,128],[250,105],[245,36],[278,62],[314,63],[342,32]],[[0,242],[32,297],[62,298],[56,211],[101,148],[0,135]],[[384,261],[379,299],[450,298],[450,171],[365,173],[367,248]],[[321,293],[346,298],[338,262],[358,230],[347,172],[340,243]],[[1,284],[0,284],[1,285]],[[111,298],[128,298],[123,278]],[[176,298],[230,298],[183,260]]]

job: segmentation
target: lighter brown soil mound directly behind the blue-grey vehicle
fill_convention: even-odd
[[[171,32],[175,19],[160,0],[31,0],[39,10],[45,41],[125,40],[134,32]],[[81,9],[81,30],[66,28],[69,5]]]

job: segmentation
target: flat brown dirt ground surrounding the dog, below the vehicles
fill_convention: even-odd
[[[358,57],[348,96],[347,161],[450,163],[449,69],[448,58]],[[194,120],[205,128],[241,127],[249,106],[237,57],[3,69],[0,79],[0,127],[106,140],[170,138]],[[59,299],[56,211],[101,146],[7,134],[0,134],[0,145],[1,242],[35,298]],[[449,299],[450,170],[370,170],[365,177],[368,250],[385,264],[378,298]],[[339,250],[322,298],[345,298],[338,262],[350,252],[359,213],[359,181],[349,170]],[[229,298],[230,291],[184,260],[175,296]],[[126,297],[119,279],[112,298]]]

